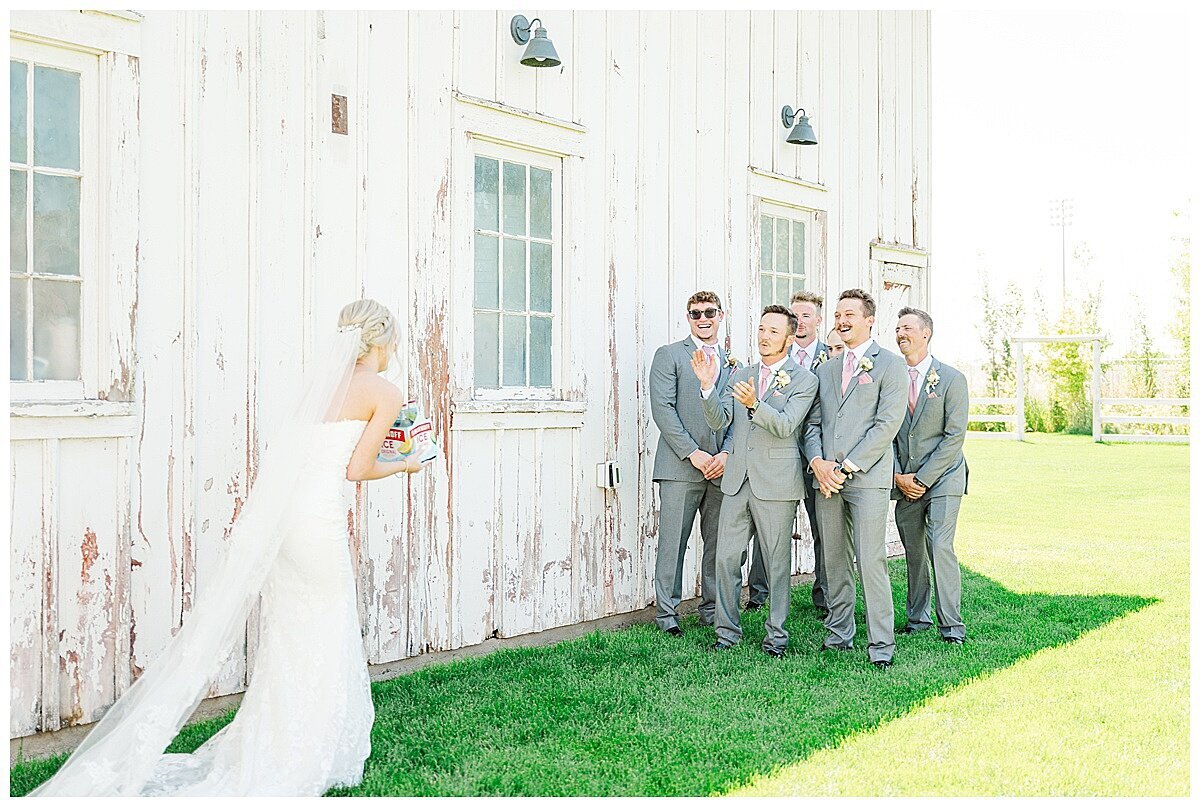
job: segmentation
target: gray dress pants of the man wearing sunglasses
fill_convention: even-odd
[[[700,513],[700,623],[712,624],[716,609],[716,528],[725,498],[716,482],[659,480],[659,551],[654,561],[654,621],[666,630],[679,624],[683,558]]]

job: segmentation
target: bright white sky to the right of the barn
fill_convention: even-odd
[[[1060,306],[1060,231],[1050,199],[1074,199],[1068,294],[1103,283],[1102,328],[1129,346],[1136,294],[1168,353],[1171,211],[1188,204],[1195,90],[1182,11],[932,13],[934,353],[982,354],[979,271],[1043,288]],[[1194,191],[1192,191],[1194,196]],[[1092,264],[1073,261],[1086,244]],[[1034,331],[1032,316],[1026,331]]]

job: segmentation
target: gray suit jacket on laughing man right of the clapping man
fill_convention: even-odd
[[[908,372],[905,360],[884,351],[877,341],[863,358],[869,358],[872,366],[854,372],[845,397],[842,361],[830,360],[817,367],[821,393],[804,426],[804,454],[839,462],[850,460],[862,468],[846,482],[847,488],[890,490],[895,467],[893,441],[908,408]],[[817,486],[816,477],[812,486]]]

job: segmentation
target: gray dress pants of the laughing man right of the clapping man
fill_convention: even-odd
[[[858,558],[866,603],[866,654],[872,662],[892,660],[895,652],[895,612],[888,578],[887,521],[890,490],[842,488],[829,498],[816,491],[817,525],[826,567],[826,604],[829,615],[827,647],[854,644],[854,576],[850,545]]]

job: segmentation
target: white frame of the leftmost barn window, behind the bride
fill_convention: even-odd
[[[35,65],[55,67],[77,72],[79,80],[79,379],[77,381],[10,381],[10,401],[79,401],[86,397],[88,389],[95,389],[100,379],[100,349],[107,343],[100,331],[100,283],[103,282],[98,265],[100,211],[97,189],[100,185],[100,56],[95,53],[54,47],[12,37],[10,40],[10,60],[25,61],[30,65],[30,76]],[[34,115],[30,108],[28,126],[32,139]],[[10,169],[24,168],[24,165],[10,162]],[[73,175],[73,172],[47,169],[44,173]],[[30,172],[32,179],[32,172]],[[26,198],[31,198],[32,181],[29,183]],[[25,220],[25,238],[32,246],[34,209],[28,205]],[[30,312],[32,313],[32,312]],[[11,309],[10,309],[11,316]],[[30,331],[32,317],[30,317]],[[31,336],[29,337],[32,339]],[[31,347],[30,347],[31,349]]]

